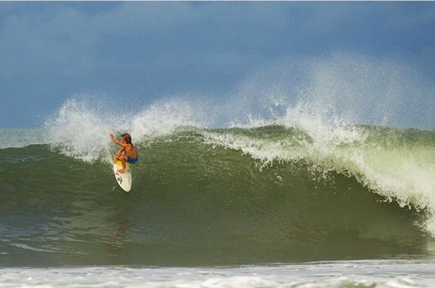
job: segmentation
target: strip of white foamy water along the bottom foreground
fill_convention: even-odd
[[[430,261],[341,261],[233,268],[3,268],[1,287],[433,287]]]

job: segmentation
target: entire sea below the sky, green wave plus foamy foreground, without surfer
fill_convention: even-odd
[[[80,107],[0,129],[3,287],[435,283],[434,130],[152,109],[123,126]],[[130,193],[111,132],[139,152]]]

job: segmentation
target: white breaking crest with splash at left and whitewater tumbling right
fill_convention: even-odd
[[[87,100],[67,101],[46,123],[51,147],[87,163],[110,163],[113,143],[108,134],[116,130],[130,132],[145,153],[157,143],[190,139],[239,151],[260,170],[303,161],[312,178],[328,180],[329,173],[339,173],[402,207],[435,212],[433,130],[349,124],[341,117],[325,117],[304,102],[287,107],[273,121],[233,123],[229,128],[207,128],[191,103],[174,99],[134,115],[117,116],[95,107]],[[432,217],[421,225],[435,235]]]

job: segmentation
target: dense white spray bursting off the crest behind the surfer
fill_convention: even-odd
[[[135,114],[105,106],[104,102],[104,98],[86,95],[66,101],[45,122],[47,142],[64,155],[85,162],[102,159],[107,162],[113,154],[110,133],[128,132],[133,141],[146,142],[196,124],[191,106],[180,101],[161,101]]]

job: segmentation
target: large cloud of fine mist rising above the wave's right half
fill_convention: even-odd
[[[338,51],[264,64],[224,94],[221,105],[232,126],[271,124],[303,104],[324,120],[432,129],[433,91],[432,80],[394,58]]]

